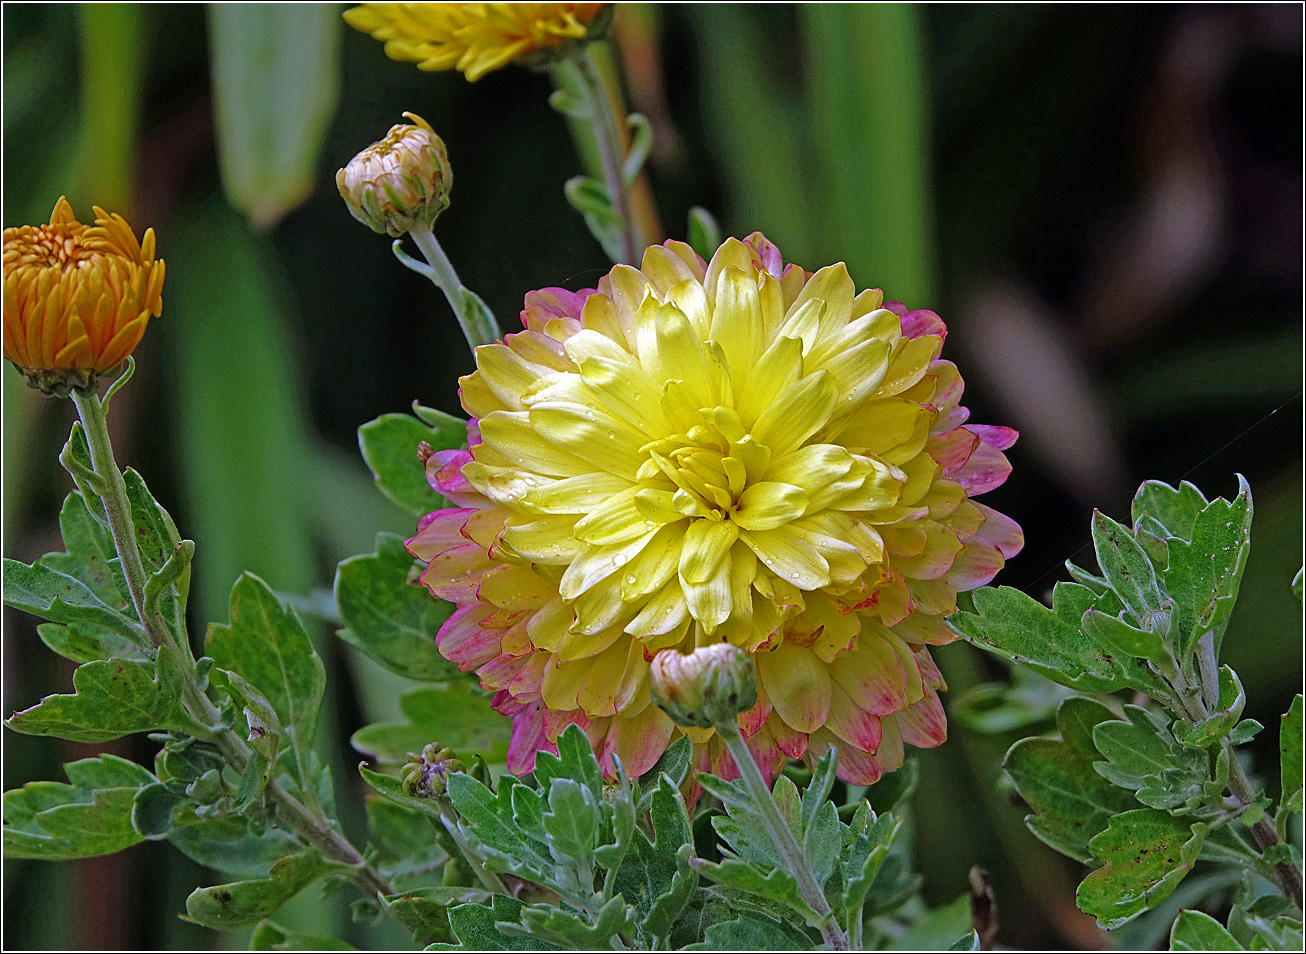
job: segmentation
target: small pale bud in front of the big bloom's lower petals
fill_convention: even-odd
[[[717,643],[690,655],[663,650],[653,657],[649,690],[673,721],[710,728],[735,720],[757,702],[752,656]]]

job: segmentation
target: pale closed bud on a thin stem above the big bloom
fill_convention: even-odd
[[[392,125],[380,142],[336,173],[336,187],[350,213],[372,231],[398,238],[414,225],[427,227],[449,208],[453,170],[444,141],[424,119]]]

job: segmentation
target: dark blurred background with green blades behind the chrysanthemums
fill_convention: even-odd
[[[200,544],[197,636],[226,619],[242,568],[312,606],[376,531],[410,531],[372,489],[355,430],[414,399],[457,412],[454,378],[471,369],[435,290],[349,217],[337,167],[404,110],[430,120],[456,176],[438,235],[505,329],[525,291],[592,286],[607,268],[562,195],[580,159],[545,76],[422,73],[341,9],[3,9],[4,226],[46,221],[67,193],[84,218],[95,203],[153,226],[168,264],[112,426],[119,460]],[[999,582],[1043,596],[1087,546],[1092,507],[1127,514],[1144,478],[1213,497],[1247,476],[1254,549],[1225,646],[1249,715],[1277,725],[1302,681],[1288,591],[1302,563],[1301,7],[623,4],[613,38],[607,65],[653,124],[667,237],[704,205],[727,234],[760,229],[808,268],[846,260],[859,285],[948,321],[972,419],[1023,434],[986,498],[1028,540]],[[59,549],[71,412],[5,365],[8,557]],[[357,832],[347,738],[393,716],[401,686],[329,622],[317,636],[320,744]],[[935,655],[953,698],[1003,678],[969,647]],[[69,669],[5,610],[7,712],[64,691]],[[1267,762],[1273,734],[1258,740]],[[61,779],[94,750],[153,757],[144,738],[3,741],[5,788]],[[953,724],[922,754],[926,895],[955,898],[980,864],[1003,944],[1109,946],[1074,908],[1081,872],[998,784],[1010,741]],[[153,843],[9,863],[3,942],[240,945],[175,916],[212,881]],[[312,890],[278,920],[405,946]],[[1123,942],[1158,940],[1144,925]]]

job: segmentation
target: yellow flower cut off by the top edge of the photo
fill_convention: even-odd
[[[392,60],[458,69],[475,81],[513,60],[584,41],[605,4],[362,4],[350,26]]]

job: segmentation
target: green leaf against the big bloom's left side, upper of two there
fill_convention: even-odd
[[[431,427],[411,414],[381,414],[358,429],[358,446],[377,489],[414,516],[447,506],[426,478],[426,465],[417,456],[418,444],[426,442],[436,451],[448,451],[462,447],[466,439],[466,427],[456,418],[443,427]]]

